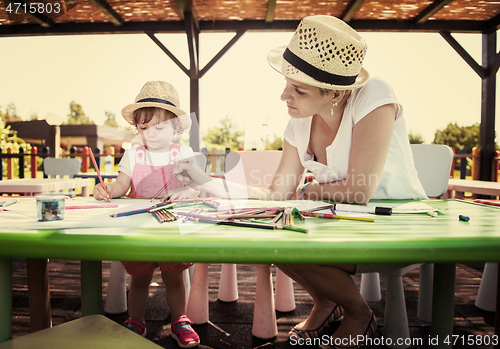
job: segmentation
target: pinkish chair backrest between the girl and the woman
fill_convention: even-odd
[[[279,150],[235,151],[226,156],[226,173],[243,167],[245,184],[269,188],[283,152]]]

